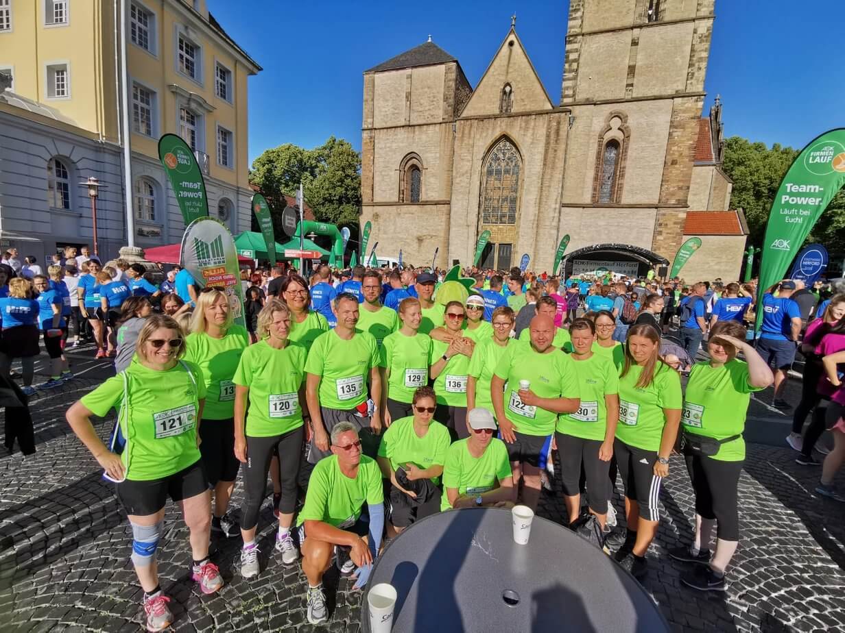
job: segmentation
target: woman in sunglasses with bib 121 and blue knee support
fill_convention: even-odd
[[[192,576],[203,593],[223,586],[209,560],[211,500],[197,448],[205,381],[197,365],[180,360],[182,332],[171,317],[155,315],[141,328],[135,357],[126,371],[112,376],[68,409],[76,436],[117,483],[117,499],[132,526],[132,562],[144,589],[147,630],[164,630],[173,621],[170,598],[161,591],[155,549],[164,531],[167,496],[182,508],[190,531]],[[91,425],[90,416],[119,411],[127,438],[120,455],[111,452]]]

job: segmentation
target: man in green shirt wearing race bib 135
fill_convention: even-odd
[[[356,330],[358,300],[352,293],[335,297],[337,326],[314,340],[305,361],[305,398],[313,433],[308,461],[317,463],[329,452],[329,430],[338,422],[368,429],[368,450],[375,455],[381,431],[381,356],[372,334]],[[369,378],[369,398],[367,380]],[[375,405],[371,404],[376,403]]]

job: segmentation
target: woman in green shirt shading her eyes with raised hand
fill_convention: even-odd
[[[739,360],[739,351],[745,361]],[[707,339],[710,360],[695,363],[684,397],[684,459],[695,492],[695,535],[690,546],[669,550],[675,560],[698,563],[681,582],[724,591],[725,569],[739,542],[737,488],[745,459],[742,433],[751,392],[774,381],[769,365],[745,343],[745,327],[718,321]],[[714,524],[716,551],[710,555]]]

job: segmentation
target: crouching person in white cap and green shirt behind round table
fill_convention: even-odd
[[[471,507],[510,507],[516,489],[504,442],[493,437],[496,421],[486,408],[466,416],[472,434],[446,452],[440,510]]]

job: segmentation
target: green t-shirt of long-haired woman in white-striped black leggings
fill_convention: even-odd
[[[616,437],[629,446],[657,452],[663,425],[664,408],[681,408],[681,379],[678,372],[661,362],[657,363],[651,384],[645,389],[635,387],[642,367],[631,365],[625,376],[619,376],[619,425]]]

